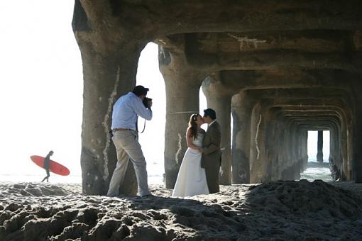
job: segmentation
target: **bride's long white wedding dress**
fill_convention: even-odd
[[[197,133],[197,139],[192,144],[202,147],[204,133]],[[205,169],[201,167],[202,153],[199,150],[187,148],[177,175],[172,196],[184,197],[199,194],[209,194]]]

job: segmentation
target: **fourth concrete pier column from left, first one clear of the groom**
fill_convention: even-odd
[[[233,184],[250,183],[251,112],[254,101],[245,91],[233,96],[233,148],[231,150]]]

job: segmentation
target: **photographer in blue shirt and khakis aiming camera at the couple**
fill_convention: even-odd
[[[119,186],[124,181],[128,159],[133,162],[140,196],[150,196],[148,191],[146,159],[138,142],[137,118],[152,118],[152,100],[146,97],[148,88],[136,86],[133,91],[121,96],[113,106],[112,140],[116,146],[117,164],[114,169],[107,196],[118,196]]]

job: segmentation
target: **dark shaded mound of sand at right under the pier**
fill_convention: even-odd
[[[280,213],[340,219],[356,219],[362,214],[362,198],[321,180],[265,183],[251,187],[248,196],[248,202]]]

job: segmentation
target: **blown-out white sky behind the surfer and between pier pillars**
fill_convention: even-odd
[[[73,5],[0,1],[0,174],[43,175],[29,157],[49,150],[71,174],[81,173],[83,77],[71,26]],[[141,53],[137,74],[137,84],[149,87],[153,98],[153,120],[140,136],[148,174],[163,173],[165,84],[157,56],[157,45],[150,43]]]

